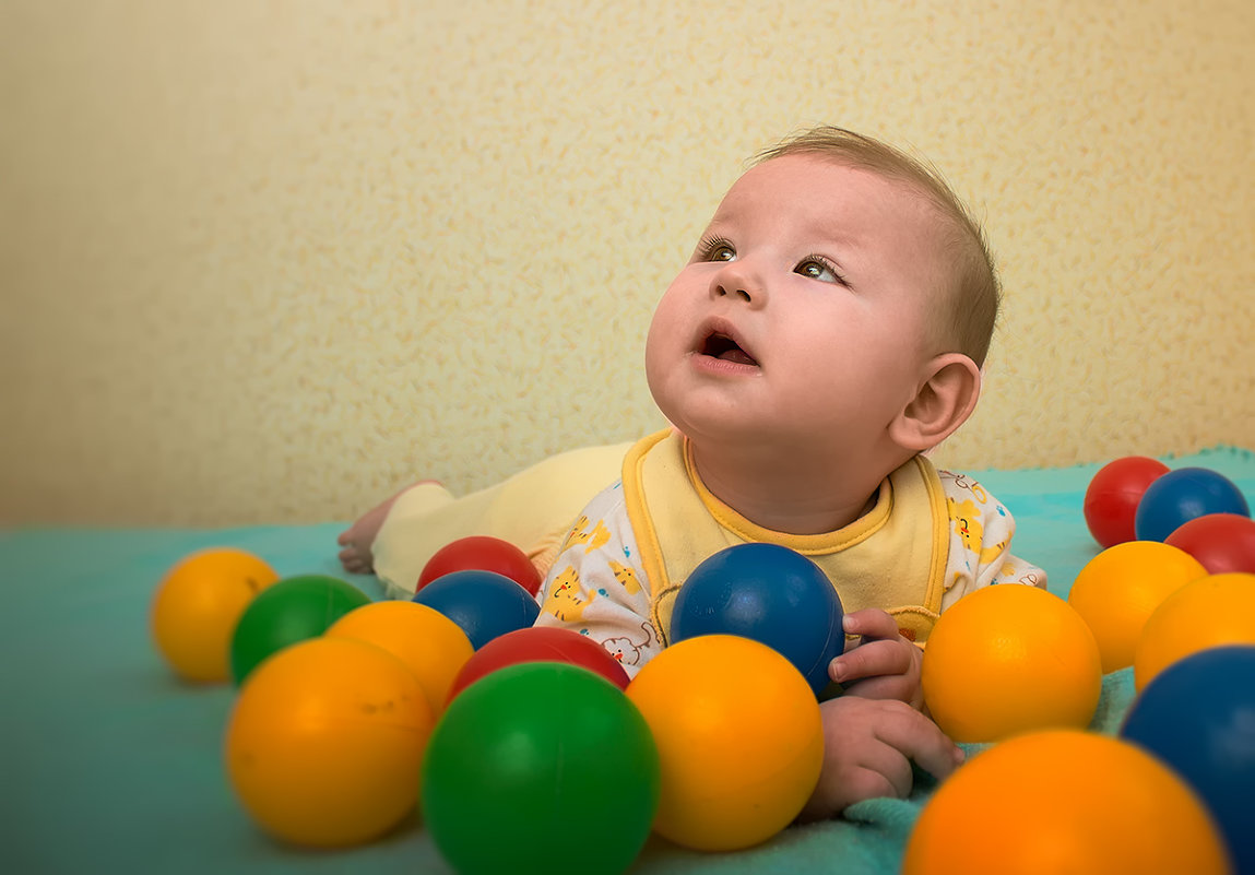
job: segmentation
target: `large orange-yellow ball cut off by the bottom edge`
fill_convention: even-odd
[[[929,645],[931,647],[931,644]],[[975,754],[925,802],[902,875],[1230,871],[1206,808],[1135,744],[1058,729]]]

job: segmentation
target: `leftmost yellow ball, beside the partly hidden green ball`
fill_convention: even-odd
[[[162,577],[149,625],[157,652],[184,680],[231,677],[231,633],[248,603],[279,580],[265,560],[232,547],[201,550]]]

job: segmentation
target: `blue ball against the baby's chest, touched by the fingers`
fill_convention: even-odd
[[[828,663],[845,650],[843,616],[832,581],[809,559],[774,544],[738,544],[698,565],[680,586],[671,643],[752,638],[783,654],[818,694],[828,685]]]

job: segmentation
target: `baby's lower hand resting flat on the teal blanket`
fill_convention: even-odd
[[[820,706],[823,768],[802,820],[835,817],[867,798],[906,798],[911,761],[937,780],[963,762],[963,749],[936,723],[894,699],[841,697]]]

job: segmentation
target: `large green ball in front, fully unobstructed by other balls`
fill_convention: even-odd
[[[579,665],[523,663],[449,703],[422,771],[459,875],[622,872],[649,837],[658,751],[640,712]]]

